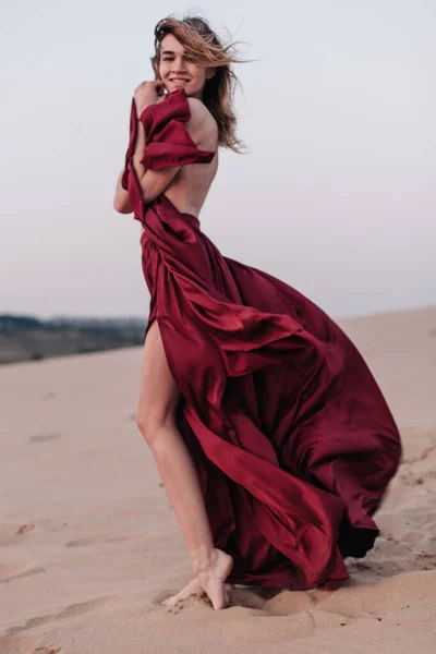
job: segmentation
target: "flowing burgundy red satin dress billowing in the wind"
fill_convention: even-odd
[[[143,164],[207,165],[184,123],[185,92],[142,112]],[[372,519],[401,455],[392,415],[343,331],[282,281],[227,258],[162,194],[146,205],[133,168],[132,101],[123,186],[144,226],[143,270],[181,392],[178,426],[195,461],[229,582],[336,588],[343,558],[378,534]]]

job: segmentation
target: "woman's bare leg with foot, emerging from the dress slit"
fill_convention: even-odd
[[[155,457],[196,577],[178,597],[203,589],[214,608],[225,608],[228,604],[225,581],[230,573],[232,559],[214,547],[195,465],[175,426],[178,399],[179,392],[168,367],[159,325],[155,320],[144,347],[136,420]]]

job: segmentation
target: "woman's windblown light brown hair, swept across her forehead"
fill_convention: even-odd
[[[235,134],[234,113],[234,89],[239,81],[231,64],[242,60],[235,56],[234,44],[222,45],[206,21],[201,17],[179,20],[168,16],[159,21],[155,27],[155,55],[152,57],[152,64],[156,77],[159,70],[160,44],[167,34],[172,34],[182,44],[191,61],[216,69],[214,77],[206,80],[203,102],[217,121],[219,145],[241,152],[244,144]]]

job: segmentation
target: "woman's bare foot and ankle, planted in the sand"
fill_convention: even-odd
[[[177,595],[172,595],[162,602],[165,606],[170,606],[186,600],[196,593],[206,593],[215,609],[227,608],[229,606],[229,593],[232,585],[225,583],[232,569],[233,559],[221,549],[214,549],[211,564],[207,569],[202,569],[195,579],[190,581],[185,588]]]

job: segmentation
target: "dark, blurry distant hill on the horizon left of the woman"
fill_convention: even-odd
[[[138,318],[41,320],[0,314],[0,364],[141,346],[145,327],[146,322]]]

